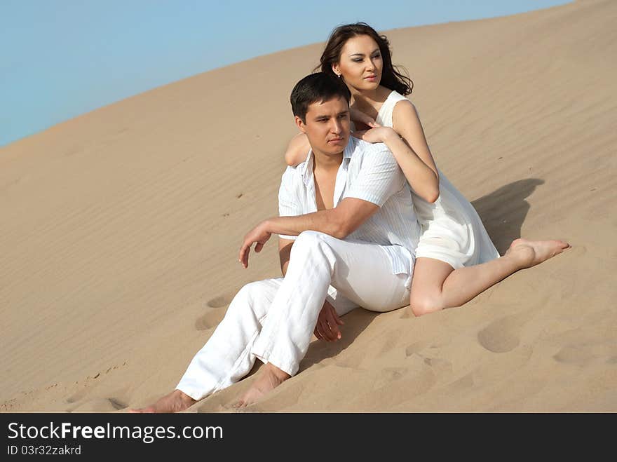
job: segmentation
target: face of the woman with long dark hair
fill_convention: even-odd
[[[358,35],[346,41],[339,62],[332,66],[335,74],[355,90],[374,90],[381,81],[384,61],[377,42],[368,35]]]

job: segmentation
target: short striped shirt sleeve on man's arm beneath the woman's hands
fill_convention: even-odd
[[[367,152],[358,176],[345,197],[362,199],[381,207],[388,198],[405,186],[405,177],[385,144]]]

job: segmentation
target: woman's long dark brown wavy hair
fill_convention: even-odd
[[[414,83],[409,77],[399,72],[398,67],[392,64],[392,54],[390,50],[390,42],[385,35],[379,35],[366,22],[355,22],[355,24],[346,24],[337,27],[332,31],[325,46],[325,50],[321,54],[320,63],[315,70],[321,68],[321,72],[334,75],[332,64],[339,62],[341,58],[341,50],[345,43],[352,37],[358,35],[367,35],[371,37],[379,46],[381,59],[384,61],[384,69],[381,71],[380,85],[383,85],[390,90],[396,90],[403,96],[412,93]],[[405,68],[402,68],[405,70]]]

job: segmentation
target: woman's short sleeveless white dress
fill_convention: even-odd
[[[394,106],[406,97],[393,91],[379,109],[375,121],[392,127]],[[439,172],[440,195],[435,203],[425,201],[412,190],[421,236],[416,258],[426,257],[445,261],[454,269],[484,263],[499,257],[475,208]]]

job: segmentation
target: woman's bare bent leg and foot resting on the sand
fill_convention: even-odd
[[[419,257],[409,301],[412,311],[420,316],[466,304],[510,274],[540,264],[568,247],[562,240],[516,239],[503,257],[456,270],[445,261]]]

